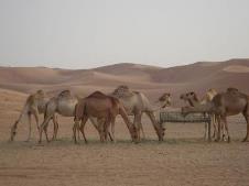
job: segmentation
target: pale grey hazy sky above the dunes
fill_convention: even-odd
[[[249,0],[0,0],[0,65],[249,57]]]

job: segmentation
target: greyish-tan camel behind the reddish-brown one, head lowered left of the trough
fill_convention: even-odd
[[[149,99],[142,92],[131,91],[128,86],[121,85],[113,90],[111,96],[118,98],[122,102],[129,116],[134,116],[133,123],[138,130],[139,140],[140,130],[142,131],[144,138],[144,132],[141,124],[141,117],[142,113],[145,113],[150,118],[154,127],[159,141],[163,141],[165,129],[155,120],[154,110],[152,109]]]

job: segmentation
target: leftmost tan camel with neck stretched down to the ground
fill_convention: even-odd
[[[34,116],[36,127],[39,130],[39,114],[45,112],[45,106],[46,102],[48,101],[48,98],[45,96],[43,90],[37,90],[35,94],[32,94],[28,97],[23,109],[18,118],[18,120],[14,122],[14,124],[11,128],[11,134],[10,134],[10,141],[14,140],[14,136],[17,134],[17,129],[18,124],[21,122],[21,120],[26,117],[29,119],[29,133],[28,133],[28,139],[26,141],[30,141],[31,138],[31,116]],[[53,123],[54,123],[54,129],[57,125],[57,120],[56,117],[53,114]]]

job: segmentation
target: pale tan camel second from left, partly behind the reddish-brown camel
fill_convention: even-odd
[[[58,94],[58,96],[53,97],[50,99],[50,101],[46,103],[45,108],[45,114],[43,123],[40,127],[40,140],[39,143],[42,141],[42,133],[45,132],[45,135],[47,136],[47,124],[50,120],[53,118],[55,113],[58,113],[63,117],[75,117],[75,107],[78,103],[78,97],[71,94],[69,90],[63,90]],[[99,122],[104,122],[101,120],[96,121],[94,118],[90,117],[90,121],[94,124],[94,127],[99,132]],[[56,125],[54,130],[53,139],[56,139],[58,131],[58,125]],[[78,135],[79,138],[79,135]],[[48,142],[48,139],[46,139]],[[112,140],[112,139],[111,139]]]

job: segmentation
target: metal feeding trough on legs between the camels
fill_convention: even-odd
[[[182,112],[170,111],[170,112],[160,112],[160,123],[164,122],[182,122],[182,123],[206,123],[208,125],[208,141],[210,141],[210,116],[204,113],[188,113],[186,116]]]

